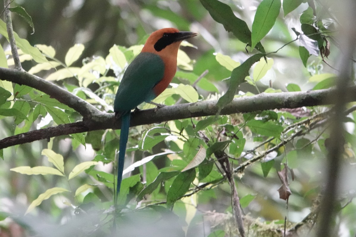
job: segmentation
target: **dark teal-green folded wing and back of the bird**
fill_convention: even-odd
[[[162,80],[163,74],[164,63],[160,56],[153,53],[138,54],[122,77],[114,101],[114,111],[125,113],[155,98],[152,89]]]

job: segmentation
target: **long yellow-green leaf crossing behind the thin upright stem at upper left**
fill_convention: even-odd
[[[2,34],[7,39],[7,41],[9,41],[9,37],[7,36],[6,23],[2,20],[0,20],[0,34]],[[21,39],[16,32],[14,32],[14,36],[17,47],[19,47],[23,53],[30,54],[33,60],[35,60],[37,63],[44,63],[47,61],[46,57],[42,55],[38,48],[33,47],[26,39]]]

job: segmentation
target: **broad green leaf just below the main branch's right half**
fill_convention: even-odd
[[[246,122],[253,133],[260,134],[262,136],[274,136],[279,137],[283,131],[281,125],[274,124],[272,122],[263,122],[262,120],[250,120]]]

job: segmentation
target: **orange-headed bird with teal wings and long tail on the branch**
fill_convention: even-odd
[[[115,116],[121,117],[116,201],[124,171],[131,110],[142,102],[151,102],[168,87],[177,71],[180,43],[197,35],[176,28],[163,28],[153,32],[124,72],[114,99]]]

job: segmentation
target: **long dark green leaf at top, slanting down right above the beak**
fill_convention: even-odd
[[[200,0],[200,2],[216,22],[223,24],[224,28],[232,32],[241,42],[251,46],[250,29],[245,21],[235,16],[229,5],[218,0]],[[265,53],[261,43],[256,44],[256,49]]]

